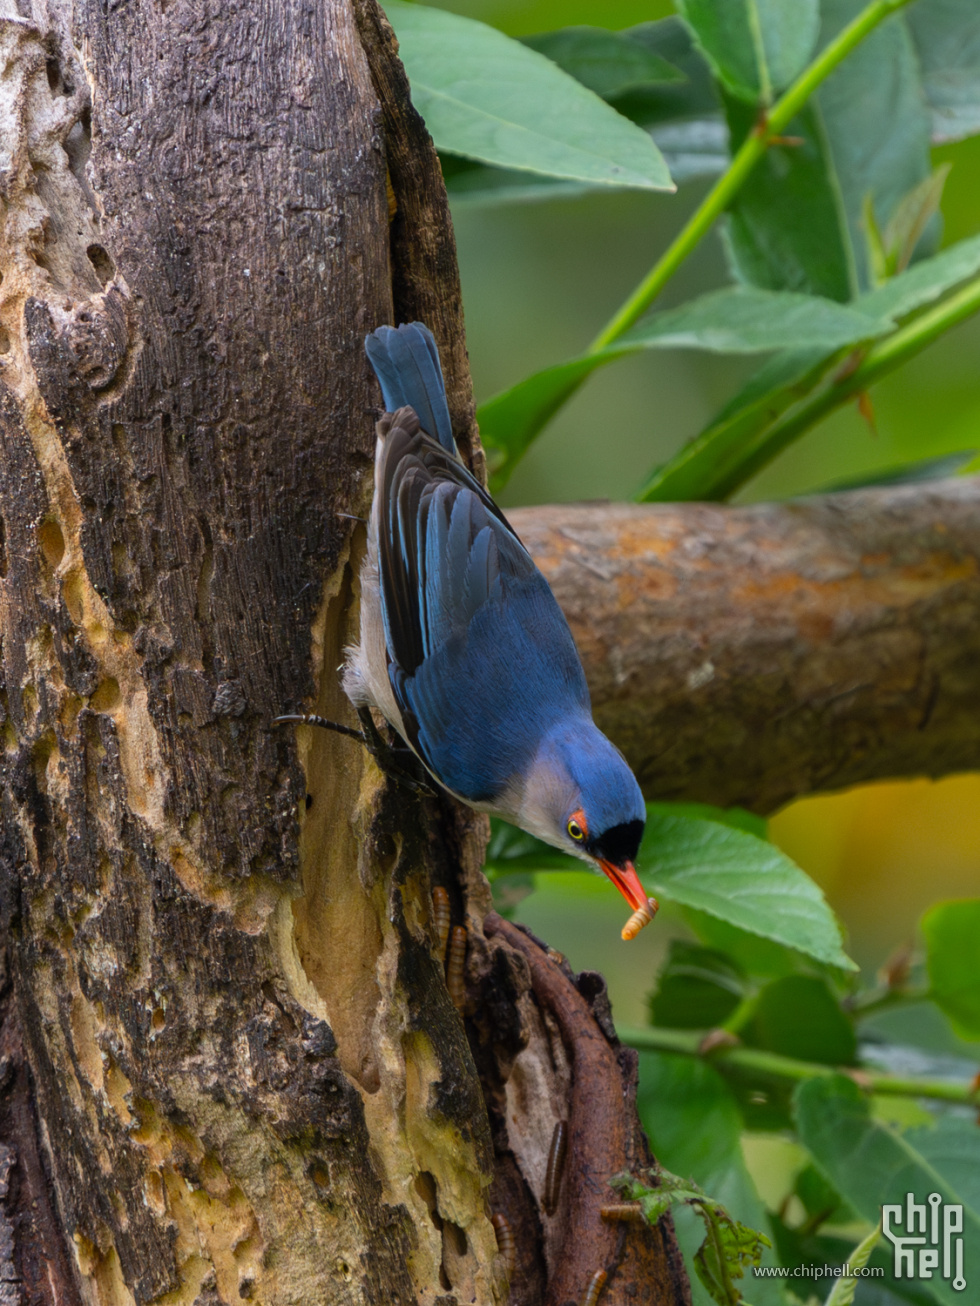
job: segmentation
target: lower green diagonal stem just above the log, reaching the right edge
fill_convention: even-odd
[[[921,313],[885,340],[872,345],[857,367],[852,368],[826,389],[806,400],[774,426],[766,427],[749,445],[729,474],[711,487],[711,499],[728,499],[750,481],[757,471],[770,464],[793,440],[840,407],[855,394],[866,390],[874,381],[894,372],[909,358],[920,354],[951,326],[980,311],[980,277],[975,277],[942,303]]]

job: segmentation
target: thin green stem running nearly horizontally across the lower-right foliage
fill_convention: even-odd
[[[685,1057],[702,1057],[702,1034],[685,1029],[636,1029],[617,1028],[619,1038],[639,1051],[681,1053]],[[929,1097],[938,1102],[960,1102],[973,1106],[977,1091],[970,1084],[947,1084],[941,1079],[912,1079],[899,1075],[882,1075],[877,1071],[855,1070],[848,1066],[822,1066],[819,1062],[797,1060],[779,1053],[767,1053],[758,1047],[720,1046],[706,1055],[706,1059],[730,1066],[732,1070],[762,1079],[802,1083],[825,1075],[851,1075],[861,1088],[870,1093],[889,1097]]]

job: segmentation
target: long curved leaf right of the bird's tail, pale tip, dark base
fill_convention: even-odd
[[[651,313],[619,341],[595,354],[534,372],[480,406],[494,488],[499,490],[549,418],[597,367],[643,349],[698,349],[755,354],[797,347],[836,350],[873,340],[891,328],[851,306],[811,295],[729,286],[679,308]]]

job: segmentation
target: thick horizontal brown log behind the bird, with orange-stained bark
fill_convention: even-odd
[[[649,798],[770,812],[980,767],[980,478],[510,517]]]

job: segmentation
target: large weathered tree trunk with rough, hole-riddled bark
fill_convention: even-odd
[[[669,1222],[597,1218],[648,1164],[601,981],[483,935],[482,819],[269,725],[349,718],[367,330],[433,326],[480,469],[444,191],[384,20],[5,8],[0,1292],[490,1306],[493,1207],[511,1301],[600,1267],[604,1306],[687,1301]],[[469,930],[465,1021],[434,885]]]

